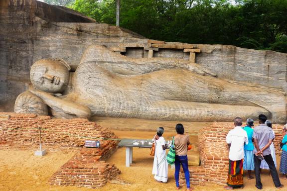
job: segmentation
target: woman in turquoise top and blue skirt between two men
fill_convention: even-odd
[[[243,160],[243,170],[247,171],[247,179],[251,180],[254,179],[251,176],[251,171],[254,171],[254,145],[252,143],[252,135],[253,135],[253,126],[254,126],[253,119],[247,119],[246,126],[243,129],[247,133],[248,137],[248,144],[244,144],[244,160]]]

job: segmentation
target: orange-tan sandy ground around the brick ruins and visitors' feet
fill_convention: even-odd
[[[116,121],[113,121],[117,124]],[[143,121],[144,122],[144,121]],[[200,127],[207,123],[190,123],[195,125],[195,128],[187,129],[187,133],[193,133],[198,131]],[[122,123],[122,125],[124,125]],[[144,123],[143,129],[146,129],[148,122]],[[185,127],[188,125],[184,124]],[[105,126],[102,124],[102,126]],[[120,138],[151,138],[154,135],[152,129],[156,129],[158,124],[150,126],[148,131],[114,131]],[[170,129],[163,134],[164,137],[171,137],[174,133],[174,127],[170,125]],[[132,126],[127,127],[132,128]],[[167,128],[168,129],[168,128]],[[124,130],[124,129],[122,129]],[[197,137],[191,136],[191,142],[193,145],[197,144]],[[43,157],[36,157],[31,151],[14,151],[14,150],[0,150],[0,191],[92,191],[87,188],[76,187],[60,187],[50,186],[47,184],[51,175],[59,169],[64,163],[66,163],[75,152],[61,153],[61,152],[49,152]],[[131,185],[115,185],[108,183],[99,191],[173,191],[175,190],[175,181],[173,177],[174,171],[170,169],[168,172],[168,182],[166,184],[157,183],[154,181],[151,175],[153,158],[149,156],[149,149],[134,149],[133,164],[130,168],[125,166],[125,148],[119,148],[115,154],[108,160],[109,163],[114,163],[120,170],[120,179],[128,181]],[[280,164],[280,158],[277,159]],[[262,182],[264,184],[263,191],[275,191],[277,190],[272,178],[268,176],[268,172],[264,171],[262,175]],[[255,180],[244,179],[245,191],[256,191]],[[286,185],[286,188],[281,191],[287,191],[287,181],[282,180],[282,184]],[[222,191],[223,187],[218,185],[207,186],[194,186],[196,191]],[[185,191],[185,187],[181,189]],[[236,189],[238,190],[238,189]]]

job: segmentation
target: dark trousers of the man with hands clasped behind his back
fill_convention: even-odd
[[[280,183],[279,176],[278,176],[278,173],[277,173],[276,167],[274,165],[274,161],[273,161],[273,158],[272,158],[271,154],[270,155],[265,155],[264,159],[265,159],[266,163],[269,166],[270,173],[271,173],[271,176],[272,176],[272,179],[273,179],[275,187],[276,188],[280,187],[281,183]],[[258,189],[262,189],[263,185],[261,183],[261,178],[260,178],[261,160],[258,159],[258,157],[256,155],[254,155],[254,165],[255,165],[256,187]]]

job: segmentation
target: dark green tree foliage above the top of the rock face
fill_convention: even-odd
[[[116,23],[116,0],[75,0],[71,8]],[[287,0],[121,0],[120,26],[147,38],[229,44],[287,53]]]

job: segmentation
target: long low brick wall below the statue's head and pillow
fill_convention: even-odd
[[[48,151],[80,150],[85,140],[117,139],[110,130],[87,119],[0,112],[0,148],[39,148],[38,127],[41,127],[42,148]]]

